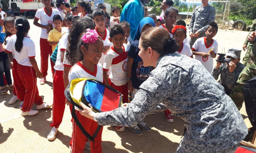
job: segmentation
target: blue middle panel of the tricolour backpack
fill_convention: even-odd
[[[87,81],[84,88],[86,100],[95,108],[100,109],[105,87],[99,83]]]

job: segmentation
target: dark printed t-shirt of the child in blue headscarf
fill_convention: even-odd
[[[130,49],[128,51],[128,57],[133,58],[132,69],[131,69],[131,79],[132,87],[139,89],[140,85],[147,80],[152,70],[152,67],[144,67],[143,61],[139,56],[139,41],[135,40],[131,43]]]

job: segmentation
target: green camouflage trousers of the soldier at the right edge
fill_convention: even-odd
[[[230,98],[236,104],[240,110],[244,102],[243,88],[247,81],[253,79],[256,76],[256,69],[250,68],[248,65],[240,73],[237,82],[231,91]]]

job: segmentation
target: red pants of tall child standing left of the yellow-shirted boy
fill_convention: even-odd
[[[41,55],[41,72],[43,73],[43,77],[46,77],[48,70],[48,58],[53,53],[52,46],[49,45],[47,39],[40,38],[40,55]],[[54,73],[54,63],[52,60],[51,67],[52,73]]]

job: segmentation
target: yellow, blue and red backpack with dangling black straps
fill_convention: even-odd
[[[116,89],[94,79],[77,78],[71,80],[68,87],[65,89],[65,96],[72,103],[72,117],[75,123],[79,126],[83,134],[94,142],[102,125],[99,125],[93,136],[83,128],[75,114],[75,106],[83,109],[79,102],[84,103],[96,113],[112,111],[120,107],[122,102],[122,94]]]

